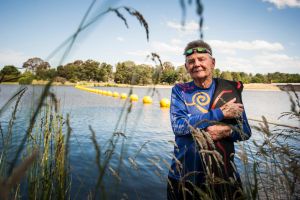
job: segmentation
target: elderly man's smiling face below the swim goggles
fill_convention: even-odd
[[[193,53],[186,57],[185,68],[193,80],[212,78],[215,59],[208,53]]]

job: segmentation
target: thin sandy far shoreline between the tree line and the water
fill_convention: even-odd
[[[36,81],[34,80],[31,85],[46,85],[48,81]],[[3,82],[2,85],[18,85],[17,82]],[[53,86],[76,86],[76,85],[82,85],[87,87],[123,87],[123,88],[162,88],[162,89],[171,89],[174,85],[129,85],[129,84],[117,84],[112,82],[86,82],[86,81],[80,81],[77,83],[71,83],[71,82],[53,82]],[[244,90],[246,91],[284,91],[284,90],[291,90],[290,87],[288,87],[288,83],[249,83],[244,84]],[[300,83],[293,84],[296,91],[300,91]]]

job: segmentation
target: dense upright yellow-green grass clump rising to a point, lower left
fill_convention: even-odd
[[[55,111],[54,104],[51,99],[46,102],[40,112],[39,124],[27,141],[25,154],[39,149],[41,155],[28,171],[30,199],[66,199],[70,195],[68,137],[63,133],[65,121]]]

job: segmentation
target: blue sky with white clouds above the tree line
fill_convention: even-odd
[[[110,12],[81,31],[69,54],[67,45],[55,51],[78,29],[91,0],[0,0],[0,69],[22,67],[32,57],[52,67],[75,60],[93,59],[115,66],[131,60],[155,66],[148,55],[163,62],[184,64],[183,49],[200,39],[195,0],[186,2],[185,26],[181,25],[179,0],[96,1],[85,24],[109,7],[138,10],[149,26],[145,29],[126,11],[124,22]],[[204,40],[213,49],[221,71],[246,73],[300,73],[300,0],[202,0]],[[55,55],[49,57],[55,51]]]

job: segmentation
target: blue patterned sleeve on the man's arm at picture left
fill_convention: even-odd
[[[189,125],[204,129],[209,121],[221,121],[224,115],[220,108],[212,109],[207,113],[191,115],[184,103],[182,90],[178,86],[172,88],[170,107],[171,126],[175,135],[191,134]]]

